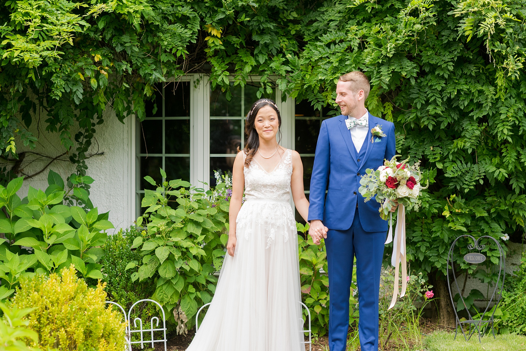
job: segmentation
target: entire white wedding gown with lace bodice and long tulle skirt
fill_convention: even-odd
[[[252,159],[216,292],[187,351],[305,351],[291,151],[272,172]]]

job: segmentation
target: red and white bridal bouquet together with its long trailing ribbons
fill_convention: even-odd
[[[371,131],[372,132],[372,131]],[[380,129],[381,132],[381,129]],[[376,195],[376,201],[381,206],[378,212],[383,220],[387,220],[388,213],[396,202],[398,205],[398,216],[395,228],[395,240],[393,242],[393,253],[391,256],[391,265],[395,269],[395,288],[393,290],[393,297],[389,309],[395,306],[398,297],[399,285],[399,266],[402,266],[402,290],[400,297],[406,294],[407,288],[407,257],[406,257],[406,209],[414,209],[418,211],[422,200],[420,200],[421,190],[429,187],[429,181],[424,188],[420,185],[422,180],[422,172],[420,171],[420,161],[410,165],[407,163],[409,159],[402,162],[397,162],[396,158],[400,155],[395,155],[388,161],[386,160],[383,166],[378,167],[377,170],[367,169],[365,176],[360,179],[361,187],[358,189],[360,194],[365,198],[365,201],[371,200]],[[389,225],[389,234],[386,244],[393,241],[393,224],[392,212]]]

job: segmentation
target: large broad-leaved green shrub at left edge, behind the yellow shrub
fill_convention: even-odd
[[[23,182],[21,177],[5,188],[0,185],[0,232],[6,238],[0,238],[0,300],[14,292],[19,278],[54,273],[72,263],[79,275],[102,278],[98,261],[103,250],[96,246],[104,244],[106,230],[113,225],[108,213],[99,214],[97,208],[86,213],[84,208],[91,203],[88,193],[76,186],[93,179],[69,177],[73,188],[66,191],[62,178],[49,171],[47,189],[29,187],[27,197],[21,199],[16,192]]]

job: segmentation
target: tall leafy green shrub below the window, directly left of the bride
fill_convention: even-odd
[[[131,261],[127,269],[138,267],[131,280],[148,280],[155,286],[151,298],[165,306],[178,333],[186,333],[195,323],[192,317],[198,307],[209,303],[216,289],[213,273],[220,268],[228,240],[228,201],[212,203],[212,191],[180,179],[159,185],[151,177],[145,179],[157,189],[145,190],[141,206],[147,209],[137,219],[145,230],[132,245],[140,247],[142,259]],[[222,183],[216,189],[224,187]]]

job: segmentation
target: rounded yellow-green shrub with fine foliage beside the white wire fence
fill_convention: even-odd
[[[118,312],[106,308],[104,284],[89,288],[75,267],[60,275],[37,275],[21,280],[13,299],[18,308],[34,307],[28,327],[38,334],[42,348],[60,351],[122,351],[125,324]]]

